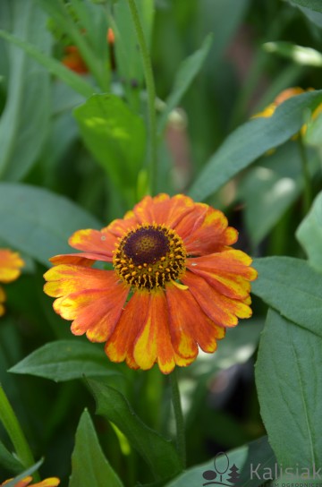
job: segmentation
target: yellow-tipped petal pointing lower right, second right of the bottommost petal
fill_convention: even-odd
[[[204,278],[196,274],[186,272],[182,282],[189,286],[189,291],[195,297],[199,306],[210,320],[222,327],[234,327],[238,323],[238,318],[250,318],[250,306],[246,300],[236,300],[222,295],[208,284]],[[247,299],[249,303],[249,299]]]

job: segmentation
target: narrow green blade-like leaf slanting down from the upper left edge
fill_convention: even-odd
[[[15,46],[20,47],[22,51],[35,59],[38,64],[41,64],[47,68],[49,73],[55,74],[55,76],[68,84],[72,90],[78,91],[83,97],[88,98],[96,91],[96,89],[91,87],[88,82],[84,81],[79,74],[73,73],[72,70],[65,67],[64,64],[60,63],[53,57],[48,56],[41,49],[34,46],[30,42],[21,40],[21,38],[18,38],[5,30],[0,30],[0,38],[4,38]]]

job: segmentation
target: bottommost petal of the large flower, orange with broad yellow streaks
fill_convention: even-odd
[[[163,373],[174,370],[174,349],[163,290],[149,294],[148,313],[134,344],[133,356],[140,369],[148,370],[157,362]]]

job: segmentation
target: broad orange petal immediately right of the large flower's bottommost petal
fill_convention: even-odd
[[[214,352],[216,340],[225,337],[225,329],[216,326],[202,312],[190,291],[171,286],[166,290],[166,299],[171,337],[177,355],[194,360],[198,355],[197,343],[204,352]]]

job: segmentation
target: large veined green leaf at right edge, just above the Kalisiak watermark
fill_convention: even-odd
[[[308,306],[309,308],[309,306]],[[270,310],[262,334],[256,384],[268,439],[283,467],[318,466],[322,341]]]

